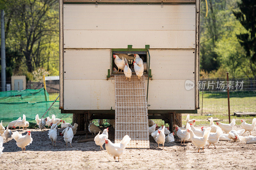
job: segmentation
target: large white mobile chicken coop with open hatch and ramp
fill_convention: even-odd
[[[60,0],[61,113],[72,113],[79,130],[92,119],[115,119],[115,140],[129,133],[131,147],[149,147],[148,118],[171,126],[181,123],[180,114],[197,113],[199,6],[199,0]],[[125,80],[113,54],[139,54],[146,63],[140,80],[134,73]],[[185,87],[188,80],[194,88]]]

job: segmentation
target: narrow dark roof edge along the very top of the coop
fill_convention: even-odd
[[[196,0],[63,0],[64,4],[196,4]]]

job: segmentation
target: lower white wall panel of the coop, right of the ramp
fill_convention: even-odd
[[[185,81],[149,80],[148,110],[195,109],[195,89],[186,90]],[[194,79],[191,81],[195,82]]]

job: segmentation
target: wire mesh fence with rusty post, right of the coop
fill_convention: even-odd
[[[229,76],[227,78],[200,79],[200,114],[228,114],[228,91],[230,113],[256,112],[256,76]]]

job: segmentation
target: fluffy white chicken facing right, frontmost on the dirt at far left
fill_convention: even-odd
[[[22,149],[22,152],[26,150],[26,146],[31,144],[33,138],[31,137],[30,131],[26,135],[21,135],[19,132],[13,132],[12,138],[16,141],[18,147]],[[24,150],[23,150],[24,149]]]

